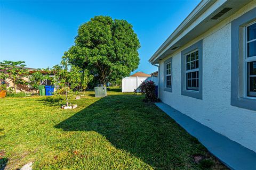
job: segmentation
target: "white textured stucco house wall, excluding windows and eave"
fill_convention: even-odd
[[[253,1],[159,62],[159,98],[166,104],[256,152],[256,112],[230,105],[231,21]],[[203,40],[202,100],[181,95],[181,51]],[[164,91],[164,61],[172,57],[172,92]]]

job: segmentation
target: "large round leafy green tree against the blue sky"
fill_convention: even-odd
[[[109,16],[95,16],[82,24],[63,57],[82,70],[90,70],[98,83],[129,76],[139,65],[139,39],[132,25]]]

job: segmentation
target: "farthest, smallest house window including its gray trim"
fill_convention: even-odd
[[[164,91],[172,92],[172,57],[164,61]]]

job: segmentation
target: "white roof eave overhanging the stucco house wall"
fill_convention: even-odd
[[[193,10],[188,15],[188,17],[179,25],[179,27],[172,33],[172,35],[167,38],[164,44],[158,48],[156,53],[150,57],[149,62],[153,65],[159,63],[160,60],[172,55],[181,47],[186,45],[189,41],[195,39],[199,35],[202,35],[202,33],[211,29],[219,22],[225,20],[251,1],[252,0],[205,0],[200,2],[195,10]],[[229,10],[225,14],[222,14],[219,19],[212,19],[213,16],[218,14],[225,7],[231,8],[231,10]]]

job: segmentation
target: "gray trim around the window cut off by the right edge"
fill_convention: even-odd
[[[256,111],[256,100],[245,98],[244,84],[243,84],[243,70],[241,62],[244,60],[243,56],[243,36],[241,31],[246,24],[256,20],[256,8],[243,14],[239,18],[231,22],[231,102],[232,106],[242,107]],[[241,44],[242,43],[242,44]]]

